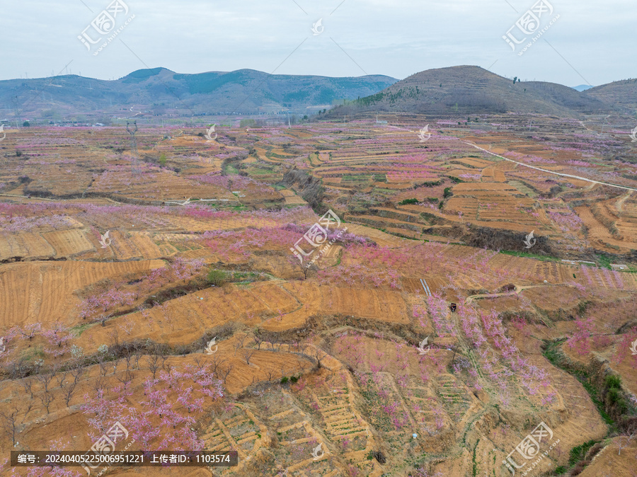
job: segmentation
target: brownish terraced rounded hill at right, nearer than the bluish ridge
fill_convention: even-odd
[[[369,111],[430,115],[519,112],[563,117],[626,113],[637,103],[637,82],[630,81],[579,92],[546,81],[507,79],[476,66],[428,69],[339,106],[331,116]]]

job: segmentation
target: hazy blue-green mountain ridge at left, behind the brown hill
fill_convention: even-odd
[[[382,75],[331,78],[268,74],[253,69],[178,74],[140,69],[114,81],[76,75],[0,81],[0,115],[31,117],[113,113],[134,107],[142,113],[305,113],[329,108],[334,100],[377,93],[398,81]],[[51,112],[51,110],[54,110]]]

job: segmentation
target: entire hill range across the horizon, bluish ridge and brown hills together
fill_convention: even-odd
[[[587,88],[583,91],[578,89]],[[76,75],[0,81],[0,119],[287,113],[406,112],[430,115],[539,113],[562,117],[637,113],[637,79],[588,88],[514,81],[476,66],[428,69],[398,81],[268,74],[253,69],[180,74],[140,69],[114,81]]]

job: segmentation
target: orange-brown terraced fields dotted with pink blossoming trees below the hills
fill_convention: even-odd
[[[586,178],[633,166],[566,120],[388,118],[149,128],[137,157],[121,127],[8,135],[0,447],[120,422],[239,454],[192,475],[501,477],[544,423],[539,473],[589,441],[580,475],[606,469],[637,413],[637,199]]]

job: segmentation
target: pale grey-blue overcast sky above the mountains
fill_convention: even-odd
[[[134,18],[94,55],[97,45],[87,50],[78,36],[100,38],[85,29],[110,0],[0,0],[0,79],[65,71],[117,79],[147,67],[403,79],[460,64],[567,86],[637,77],[634,0],[544,0],[553,13],[539,18],[540,30],[559,18],[522,56],[523,44],[514,52],[503,35],[534,0],[120,1],[129,11],[121,6],[115,30]],[[524,38],[517,27],[510,33]]]

